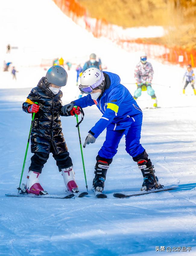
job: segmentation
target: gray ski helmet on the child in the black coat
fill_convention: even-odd
[[[61,66],[52,66],[46,73],[45,84],[55,84],[57,86],[65,86],[67,84],[68,75]]]

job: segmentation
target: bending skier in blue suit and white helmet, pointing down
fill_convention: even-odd
[[[62,112],[68,116],[71,110],[96,104],[103,114],[90,129],[84,148],[87,144],[94,143],[100,133],[105,128],[107,129],[106,140],[96,156],[95,178],[93,179],[95,193],[103,191],[107,169],[117,153],[123,135],[126,139],[127,153],[138,163],[138,168],[143,174],[144,182],[141,189],[157,188],[159,183],[154,175],[154,166],[140,144],[142,111],[128,89],[120,84],[120,77],[117,74],[102,72],[91,67],[82,74],[79,88],[87,96],[63,106]]]

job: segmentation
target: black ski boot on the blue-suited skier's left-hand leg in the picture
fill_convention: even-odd
[[[93,179],[93,188],[96,192],[102,193],[104,188],[104,182],[106,180],[106,173],[109,168],[109,164],[106,161],[98,160],[95,165],[95,178]]]

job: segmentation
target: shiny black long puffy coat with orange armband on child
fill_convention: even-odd
[[[60,115],[64,116],[61,111],[62,91],[53,94],[48,86],[44,84],[44,78],[42,77],[37,87],[31,90],[22,108],[23,111],[28,113],[27,109],[32,102],[37,102],[40,106],[39,112],[35,114],[31,131],[31,152],[50,153],[52,145],[55,154],[59,154],[68,150],[60,119]]]

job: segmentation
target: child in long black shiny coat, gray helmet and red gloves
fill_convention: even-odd
[[[62,112],[62,86],[67,84],[68,75],[63,67],[52,66],[33,88],[23,103],[26,113],[36,113],[31,132],[31,164],[27,175],[27,184],[23,192],[47,194],[39,183],[42,168],[53,154],[67,189],[75,195],[79,192],[74,178],[73,164],[63,137],[60,116]],[[35,104],[37,102],[38,104]],[[75,113],[79,114],[76,110]],[[74,111],[70,112],[74,115]]]

